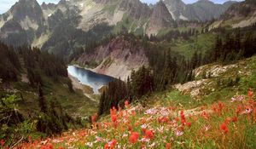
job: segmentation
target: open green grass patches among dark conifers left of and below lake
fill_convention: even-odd
[[[82,90],[77,89],[74,93],[69,91],[66,84],[67,78],[61,78],[60,82],[55,82],[48,77],[43,77],[43,81],[44,98],[48,101],[48,105],[50,100],[57,100],[71,116],[89,117],[97,111],[97,103],[84,96]],[[31,87],[28,83],[21,82],[10,83],[9,86],[17,90],[15,95],[23,98],[19,102],[19,107],[24,116],[33,116],[39,111],[37,87]],[[7,94],[12,95],[12,93],[3,93],[3,95]]]

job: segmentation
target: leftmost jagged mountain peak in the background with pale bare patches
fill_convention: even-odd
[[[0,38],[6,43],[30,43],[44,28],[44,14],[36,0],[20,0],[0,16]]]

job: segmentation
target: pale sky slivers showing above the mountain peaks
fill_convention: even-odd
[[[18,0],[0,0],[0,14],[8,11]],[[38,3],[58,3],[60,0],[38,0]],[[141,0],[143,3],[156,3],[159,0]],[[197,0],[183,0],[184,3],[195,3]],[[224,3],[229,0],[212,0],[214,3]],[[241,0],[236,0],[241,1]]]

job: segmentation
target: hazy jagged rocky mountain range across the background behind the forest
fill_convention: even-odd
[[[218,18],[231,3],[203,0],[186,5],[181,0],[165,0],[148,6],[140,0],[61,0],[40,6],[36,0],[20,0],[0,15],[0,39],[68,58],[74,49],[112,33],[157,35],[178,27],[175,20]]]

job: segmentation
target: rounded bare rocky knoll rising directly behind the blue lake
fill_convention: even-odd
[[[92,54],[82,54],[79,65],[94,61],[97,66],[92,71],[125,80],[131,70],[148,66],[148,58],[143,47],[131,37],[116,37],[105,45],[94,49]]]

